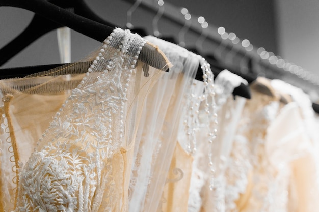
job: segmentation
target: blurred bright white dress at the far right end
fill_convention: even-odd
[[[280,124],[276,123],[270,129],[280,141],[279,145],[268,146],[269,153],[273,156],[272,163],[278,166],[278,161],[281,161],[280,164],[290,165],[289,210],[315,211],[318,203],[314,196],[319,192],[319,137],[310,98],[300,88],[281,80],[272,80],[271,83],[274,88],[289,94],[295,101],[282,111],[282,117],[277,120]],[[290,120],[289,123],[287,119]],[[280,125],[281,132],[277,132],[276,127]],[[275,151],[276,147],[285,149],[285,152]]]

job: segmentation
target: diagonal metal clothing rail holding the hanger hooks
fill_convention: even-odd
[[[162,16],[177,23],[181,26],[185,25],[185,17],[181,13],[182,7],[174,6],[168,2],[164,2],[164,5],[159,6],[154,0],[126,0],[134,4],[136,1],[140,1],[139,7],[151,10],[155,13],[162,9]],[[190,13],[189,13],[190,14]],[[223,39],[221,34],[218,32],[216,26],[208,24],[207,28],[202,28],[201,24],[197,22],[199,16],[191,15],[192,21],[189,22],[189,31],[195,32],[198,35],[205,34],[205,39],[214,42],[217,45],[223,45],[223,47],[229,51],[235,51],[238,55],[244,56],[252,64],[252,70],[255,71],[256,67],[262,67],[264,73],[259,72],[257,74],[263,75],[270,79],[282,79],[290,84],[302,88],[305,92],[315,90],[319,95],[319,76],[308,72],[307,70],[297,66],[293,63],[289,63],[286,60],[281,59],[279,56],[270,55],[268,58],[264,58],[264,54],[269,54],[263,48],[251,48],[247,49],[242,46],[242,40],[234,44],[232,40],[226,38]],[[195,21],[196,19],[196,21]],[[249,43],[249,41],[248,41]],[[252,46],[251,46],[252,47]],[[263,49],[263,50],[262,50]]]

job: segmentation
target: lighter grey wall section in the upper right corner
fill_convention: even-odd
[[[319,1],[276,1],[283,58],[319,75]]]

